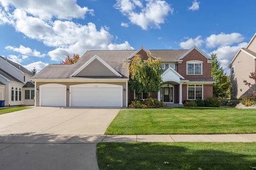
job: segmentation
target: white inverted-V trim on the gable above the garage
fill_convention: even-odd
[[[80,71],[82,71],[86,66],[88,66],[92,61],[95,59],[99,60],[104,66],[106,66],[110,71],[112,71],[116,76],[123,77],[121,74],[119,74],[113,67],[109,66],[108,63],[106,63],[104,60],[102,60],[98,55],[93,55],[93,57],[86,61],[81,67],[79,67],[73,74],[71,74],[70,77],[76,76]]]

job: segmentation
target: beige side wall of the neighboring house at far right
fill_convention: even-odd
[[[231,98],[240,98],[249,89],[243,81],[253,83],[249,74],[255,71],[255,60],[252,56],[240,51],[231,66],[235,67],[235,74],[231,74]]]

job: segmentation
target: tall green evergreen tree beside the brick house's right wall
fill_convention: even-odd
[[[213,84],[213,96],[217,98],[228,98],[230,94],[230,77],[227,76],[220,66],[217,54],[211,54],[212,63],[212,78],[215,83]]]

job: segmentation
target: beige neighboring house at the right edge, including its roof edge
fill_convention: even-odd
[[[240,48],[229,64],[231,78],[231,98],[239,99],[250,94],[249,86],[244,80],[254,84],[249,78],[250,72],[256,71],[256,34],[245,48]]]

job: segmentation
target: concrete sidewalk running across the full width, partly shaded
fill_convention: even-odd
[[[256,142],[256,134],[217,135],[3,135],[1,143]]]

